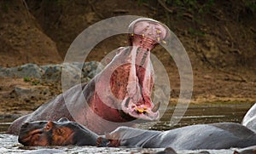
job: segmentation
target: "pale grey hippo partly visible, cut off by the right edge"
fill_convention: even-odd
[[[247,111],[245,117],[243,117],[242,125],[252,129],[256,133],[256,103]]]

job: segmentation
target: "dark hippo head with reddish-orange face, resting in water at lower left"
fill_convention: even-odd
[[[20,128],[22,145],[96,145],[97,135],[79,123],[62,117],[58,122],[36,121]]]

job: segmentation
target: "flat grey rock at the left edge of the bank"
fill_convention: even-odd
[[[44,73],[36,64],[26,64],[23,66],[11,67],[11,68],[0,68],[0,77],[33,77],[41,78]]]

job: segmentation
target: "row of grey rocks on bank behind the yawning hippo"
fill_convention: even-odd
[[[98,67],[99,66],[99,67]],[[103,66],[99,62],[90,61],[85,63],[73,62],[57,65],[38,66],[36,64],[26,64],[17,67],[0,67],[0,77],[31,77],[39,78],[43,82],[61,82],[62,71],[65,71],[66,82],[78,83],[87,82],[102,71]]]

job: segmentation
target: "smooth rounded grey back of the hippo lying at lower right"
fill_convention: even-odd
[[[197,124],[176,128],[155,136],[162,147],[175,150],[230,149],[256,144],[256,134],[239,123]],[[153,145],[151,140],[145,145]]]

